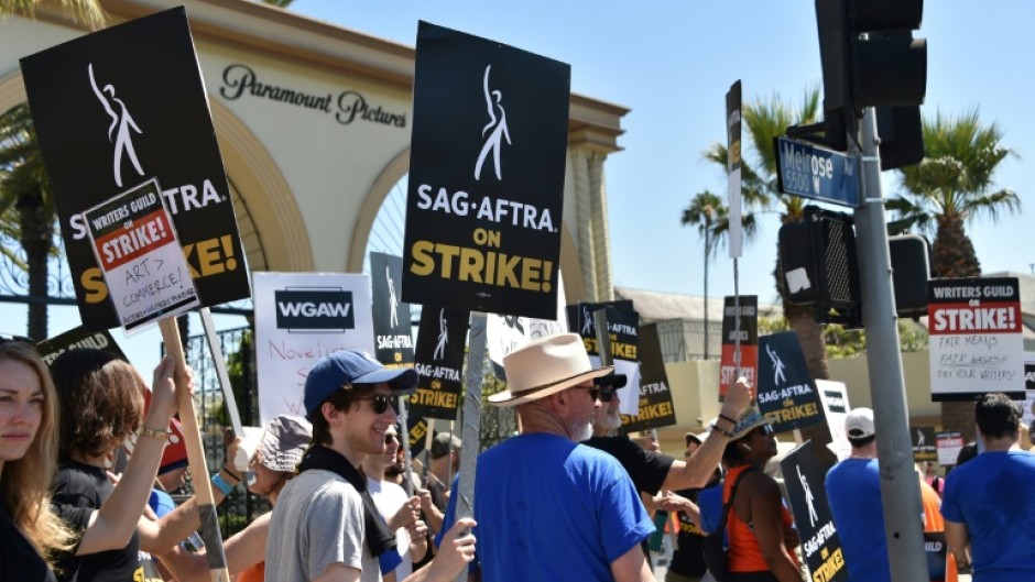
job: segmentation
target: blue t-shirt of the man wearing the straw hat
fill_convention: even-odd
[[[475,519],[486,582],[610,581],[611,562],[654,531],[613,457],[547,433],[478,457]]]

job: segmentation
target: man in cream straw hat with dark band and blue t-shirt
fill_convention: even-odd
[[[482,580],[654,580],[640,542],[654,531],[613,457],[579,444],[600,406],[593,369],[575,333],[532,342],[503,359],[520,435],[481,453],[475,518]]]

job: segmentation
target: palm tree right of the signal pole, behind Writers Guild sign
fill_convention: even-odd
[[[924,120],[926,156],[916,165],[898,169],[900,190],[887,201],[895,220],[894,233],[935,231],[931,268],[939,277],[977,277],[981,264],[965,226],[979,218],[995,222],[1004,212],[1021,210],[1021,199],[1010,188],[996,188],[996,167],[1016,154],[1002,145],[995,123],[981,123],[978,108],[957,118],[935,113]],[[973,407],[970,403],[943,403],[946,429],[973,439]]]

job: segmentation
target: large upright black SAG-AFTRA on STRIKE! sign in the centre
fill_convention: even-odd
[[[570,67],[421,22],[403,299],[555,319]]]

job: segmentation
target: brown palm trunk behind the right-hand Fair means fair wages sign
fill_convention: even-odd
[[[935,274],[946,278],[981,276],[981,264],[963,230],[963,218],[950,215],[939,216],[937,220],[938,233],[931,251]],[[941,426],[945,430],[959,430],[963,442],[974,440],[973,402],[941,403]]]

